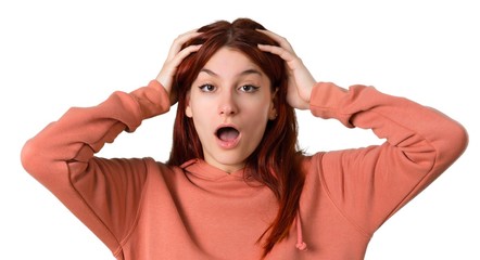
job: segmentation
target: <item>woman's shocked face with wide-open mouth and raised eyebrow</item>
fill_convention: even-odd
[[[270,80],[242,52],[222,48],[200,70],[187,96],[204,159],[226,172],[244,167],[275,119]]]

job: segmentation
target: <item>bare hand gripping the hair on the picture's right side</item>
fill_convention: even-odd
[[[286,62],[289,74],[287,102],[294,108],[308,109],[312,89],[316,83],[314,77],[302,60],[296,56],[286,38],[269,30],[258,29],[258,31],[267,35],[280,44],[280,47],[258,44],[258,48],[262,51],[277,54]]]

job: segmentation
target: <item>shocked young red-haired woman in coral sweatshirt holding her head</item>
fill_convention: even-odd
[[[94,156],[177,102],[167,162]],[[387,141],[304,155],[295,108]],[[156,79],[71,108],[22,161],[116,259],[350,260],[467,140],[435,109],[316,82],[286,39],[239,18],[179,36]]]

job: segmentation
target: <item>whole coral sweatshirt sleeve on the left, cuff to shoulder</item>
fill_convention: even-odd
[[[131,93],[114,92],[97,106],[73,107],[25,143],[22,164],[115,252],[135,221],[146,164],[93,155],[168,109],[168,94],[155,80]]]

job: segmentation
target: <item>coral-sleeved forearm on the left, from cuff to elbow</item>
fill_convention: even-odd
[[[30,174],[48,182],[52,180],[49,174],[66,172],[74,161],[87,162],[122,131],[135,131],[143,119],[168,108],[166,92],[153,80],[131,93],[115,92],[97,106],[73,107],[27,141],[22,162]]]

